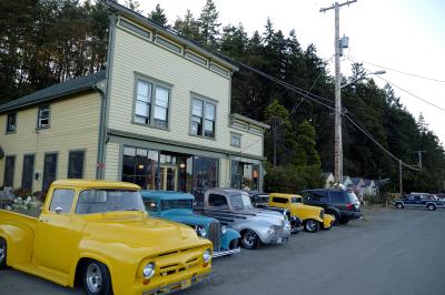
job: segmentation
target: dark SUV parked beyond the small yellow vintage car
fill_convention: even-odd
[[[350,220],[363,217],[360,202],[354,192],[335,189],[305,190],[299,193],[307,205],[325,208],[335,216],[335,224],[346,224]]]

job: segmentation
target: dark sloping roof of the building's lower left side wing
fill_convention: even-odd
[[[19,99],[12,100],[10,102],[3,103],[0,105],[0,113],[53,100],[88,89],[93,89],[96,84],[103,79],[106,79],[106,71],[100,71],[78,79],[70,79],[65,82],[53,84],[49,88],[21,96]]]

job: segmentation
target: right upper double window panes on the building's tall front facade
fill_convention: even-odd
[[[216,105],[198,98],[191,99],[190,133],[215,139]]]

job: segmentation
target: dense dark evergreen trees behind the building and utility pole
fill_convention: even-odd
[[[108,13],[103,1],[0,1],[0,103],[105,69]],[[137,0],[126,3],[141,12]],[[159,4],[149,17],[169,26]],[[197,19],[188,10],[171,27],[216,52],[304,90],[296,93],[240,67],[231,79],[231,110],[277,125],[265,134],[268,189],[295,192],[320,185],[319,172],[334,170],[334,115],[304,93],[310,90],[334,106],[334,79],[327,62],[314,44],[301,47],[298,31],[286,34],[276,30],[270,19],[249,37],[241,23],[221,27],[218,18],[215,3],[206,0]],[[389,85],[380,88],[364,73],[362,65],[354,64],[352,77],[344,78],[356,81],[342,90],[345,174],[389,177],[386,189],[397,191],[398,163],[375,144],[378,142],[413,165],[417,163],[416,151],[426,151],[422,171],[404,170],[407,192],[444,191],[444,148],[429,130],[427,118],[416,120]],[[275,142],[277,165],[273,166]]]

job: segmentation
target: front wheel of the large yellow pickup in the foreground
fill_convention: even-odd
[[[83,289],[88,295],[111,295],[111,276],[108,267],[97,261],[83,266]]]

